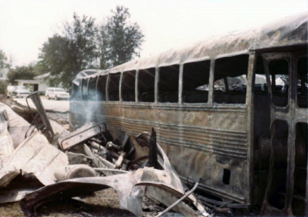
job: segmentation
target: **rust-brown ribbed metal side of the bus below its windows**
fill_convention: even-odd
[[[245,106],[196,110],[179,105],[71,101],[70,120],[73,125],[105,122],[111,132],[121,128],[131,137],[154,127],[157,142],[181,178],[204,178],[202,190],[239,203],[249,201]],[[144,153],[136,147],[136,157]]]

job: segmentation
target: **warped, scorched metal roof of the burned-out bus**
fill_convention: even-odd
[[[79,79],[83,77],[195,62],[224,55],[248,54],[253,50],[297,44],[307,44],[307,12],[285,17],[256,29],[209,36],[182,49],[170,49],[159,55],[131,60],[111,69],[83,70],[73,82],[79,85]]]

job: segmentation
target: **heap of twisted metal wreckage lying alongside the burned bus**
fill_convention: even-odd
[[[144,197],[168,207],[157,216],[170,210],[209,216],[193,194],[199,181],[193,188],[181,183],[154,129],[135,138],[120,129],[113,137],[104,123],[69,132],[48,119],[37,93],[29,98],[36,110],[19,114],[31,124],[0,103],[0,203],[20,201],[24,214],[33,216],[51,201],[112,188],[120,208],[136,216],[143,215]],[[148,147],[148,155],[136,158],[136,145]]]

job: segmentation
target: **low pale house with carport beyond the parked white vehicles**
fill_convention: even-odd
[[[18,86],[33,86],[33,90],[31,91],[39,91],[39,92],[45,92],[47,88],[49,88],[49,84],[47,81],[47,77],[55,77],[51,76],[50,72],[47,72],[43,75],[35,76],[33,80],[22,80],[22,79],[16,79],[15,81],[18,82]]]

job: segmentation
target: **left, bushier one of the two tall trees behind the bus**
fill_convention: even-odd
[[[45,71],[56,76],[53,83],[71,88],[71,81],[83,69],[92,68],[97,59],[95,19],[76,13],[72,23],[64,24],[64,34],[55,34],[43,44],[39,54]]]

